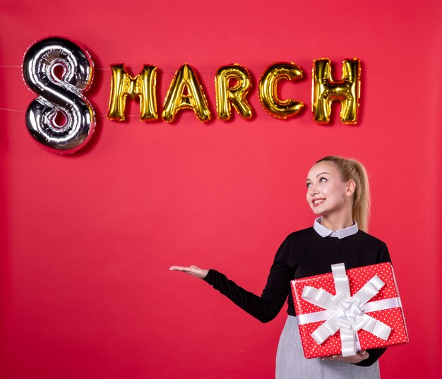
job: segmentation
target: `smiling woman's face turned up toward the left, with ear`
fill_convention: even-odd
[[[319,162],[307,175],[307,202],[315,215],[339,213],[351,202],[354,181],[342,181],[333,162]],[[351,204],[350,204],[351,211]]]

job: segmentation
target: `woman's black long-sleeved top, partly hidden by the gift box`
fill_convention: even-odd
[[[313,227],[289,234],[278,248],[270,268],[263,294],[257,296],[239,287],[216,270],[210,269],[204,278],[215,289],[262,323],[273,320],[290,294],[290,281],[301,277],[331,272],[331,265],[345,263],[345,269],[376,263],[391,262],[386,243],[374,236],[357,231],[343,239],[321,237]],[[288,296],[289,315],[296,315],[292,296]],[[369,358],[356,363],[371,366],[386,351],[368,349]]]

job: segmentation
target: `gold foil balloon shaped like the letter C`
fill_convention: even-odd
[[[280,80],[300,80],[302,76],[301,68],[293,63],[275,63],[266,68],[259,81],[259,100],[265,111],[277,119],[287,119],[297,114],[304,103],[292,99],[280,100],[277,85]]]

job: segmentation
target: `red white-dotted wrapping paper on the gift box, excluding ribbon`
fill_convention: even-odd
[[[359,289],[364,287],[364,285],[369,282],[374,275],[378,275],[378,277],[380,277],[386,284],[381,288],[376,296],[372,297],[367,302],[367,304],[371,303],[372,301],[393,299],[396,297],[400,300],[399,291],[393,272],[393,266],[391,263],[379,263],[378,265],[357,267],[350,270],[345,270],[345,272],[349,277],[351,296],[354,296]],[[294,308],[297,315],[325,311],[324,308],[315,306],[312,303],[309,303],[309,301],[305,301],[301,298],[304,287],[310,286],[317,289],[324,289],[332,295],[336,294],[335,282],[333,281],[333,274],[331,272],[328,274],[292,280],[291,283]],[[391,328],[391,332],[388,340],[384,340],[372,335],[370,332],[366,332],[366,330],[359,330],[358,337],[361,349],[364,350],[375,349],[378,347],[391,347],[408,342],[407,327],[405,325],[402,307],[399,306],[383,311],[366,312],[366,314],[370,315],[376,320],[381,321],[381,323],[388,325]],[[299,334],[301,335],[304,356],[307,359],[317,358],[320,356],[331,356],[341,353],[341,339],[339,330],[331,337],[328,337],[328,339],[326,339],[321,345],[311,337],[311,334],[324,322],[325,320],[299,325]]]

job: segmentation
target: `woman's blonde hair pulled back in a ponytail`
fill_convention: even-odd
[[[328,155],[316,163],[319,162],[333,162],[340,172],[342,181],[354,180],[356,188],[353,193],[352,218],[357,222],[359,229],[368,232],[371,198],[369,176],[364,165],[357,160],[347,160],[337,155]]]

